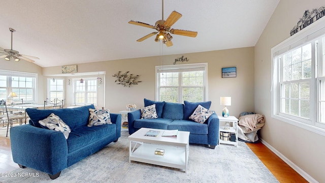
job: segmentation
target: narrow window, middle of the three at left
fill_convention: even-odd
[[[48,79],[48,98],[53,101],[54,99],[63,100],[64,98],[64,79]]]

